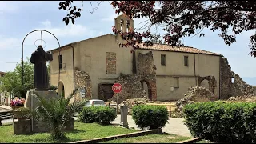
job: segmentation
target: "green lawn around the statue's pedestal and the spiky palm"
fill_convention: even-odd
[[[128,134],[138,130],[130,130],[122,127],[101,126],[97,123],[74,122],[74,130],[66,132],[67,139],[58,142],[74,142],[80,140],[89,140],[93,138],[103,138],[117,134]],[[12,125],[0,126],[0,143],[49,143],[57,142],[50,140],[50,134],[27,134],[15,135]]]

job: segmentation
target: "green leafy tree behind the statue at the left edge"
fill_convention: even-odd
[[[22,62],[17,63],[14,71],[7,72],[0,81],[3,82],[0,90],[10,92],[17,97],[26,97],[26,91],[34,87],[34,65],[29,58],[24,61],[24,86],[22,86]]]

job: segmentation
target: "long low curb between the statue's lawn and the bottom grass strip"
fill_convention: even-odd
[[[69,143],[98,143],[98,142],[110,141],[117,138],[138,137],[142,135],[161,134],[161,133],[162,133],[162,129],[154,129],[154,130],[138,131],[138,132],[129,133],[129,134],[118,134],[118,135],[105,137],[105,138],[94,138],[90,140],[75,141],[75,142],[69,142]]]

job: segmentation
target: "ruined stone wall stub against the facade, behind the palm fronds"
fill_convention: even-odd
[[[74,82],[76,88],[85,89],[85,98],[92,98],[92,87],[89,73],[87,73],[86,71],[81,71],[78,68],[75,68]],[[82,99],[79,89],[74,97],[76,101]]]

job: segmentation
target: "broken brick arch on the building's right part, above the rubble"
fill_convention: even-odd
[[[199,77],[198,78],[199,86],[203,86],[203,84],[205,85],[206,80],[208,81],[208,87],[206,88],[209,89],[210,92],[215,94],[215,88],[217,87],[216,78],[214,76]]]

